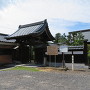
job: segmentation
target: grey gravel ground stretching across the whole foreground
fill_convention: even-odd
[[[90,90],[90,72],[0,71],[0,90]]]

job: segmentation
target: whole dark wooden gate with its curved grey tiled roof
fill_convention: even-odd
[[[18,30],[7,37],[7,39],[15,39],[19,43],[16,49],[15,60],[21,63],[37,63],[42,64],[47,41],[54,40],[51,35],[47,20],[20,25]]]

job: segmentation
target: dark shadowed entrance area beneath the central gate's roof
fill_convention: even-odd
[[[13,60],[21,63],[42,64],[45,56],[45,48],[21,44],[15,50]]]

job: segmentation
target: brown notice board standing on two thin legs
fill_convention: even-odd
[[[58,46],[47,46],[47,55],[49,55],[49,66],[51,66],[51,55],[55,55],[55,67],[56,67],[56,55],[58,55]]]

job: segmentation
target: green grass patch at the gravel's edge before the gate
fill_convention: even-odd
[[[25,66],[16,66],[16,67],[5,69],[2,71],[8,71],[8,70],[27,70],[27,71],[33,71],[33,72],[40,71],[39,69],[35,67],[25,67]]]

